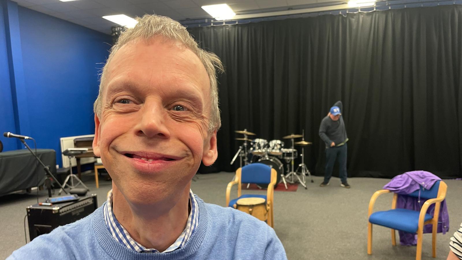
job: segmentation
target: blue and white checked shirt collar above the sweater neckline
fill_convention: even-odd
[[[145,248],[140,245],[138,242],[134,241],[133,238],[128,234],[127,230],[122,227],[122,225],[117,221],[116,216],[112,210],[112,192],[108,194],[108,202],[104,205],[104,220],[108,226],[109,231],[112,233],[112,236],[119,241],[121,244],[125,245],[127,248],[132,249],[139,253],[167,253],[174,251],[178,248],[181,248],[186,244],[188,239],[194,233],[197,228],[197,222],[199,214],[197,212],[197,201],[194,197],[194,194],[189,190],[189,206],[191,207],[191,212],[189,212],[188,222],[184,228],[181,235],[176,239],[176,241],[163,252],[159,252],[154,248]]]

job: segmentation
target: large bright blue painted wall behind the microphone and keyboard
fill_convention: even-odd
[[[106,61],[112,39],[109,35],[22,6],[17,6],[17,9],[24,102],[27,103],[22,106],[27,110],[27,118],[21,116],[19,121],[29,124],[28,129],[21,129],[21,134],[33,136],[38,148],[55,149],[56,163],[62,166],[60,137],[94,133],[92,107],[98,92],[98,71],[103,66],[101,63]],[[3,111],[11,110],[16,99],[11,97],[11,90],[9,97],[4,95],[8,86],[3,91],[3,75],[8,75],[8,72],[4,72],[2,66],[2,41],[5,37],[1,30],[0,101],[6,99],[0,104]],[[0,120],[3,119],[1,114]],[[0,128],[14,131],[14,121],[11,124],[8,117],[5,122],[8,124],[0,123]],[[9,143],[7,148],[17,149],[14,143]]]

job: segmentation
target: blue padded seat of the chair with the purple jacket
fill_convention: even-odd
[[[377,211],[371,214],[369,222],[390,229],[398,229],[408,233],[417,233],[419,227],[420,211],[395,209],[387,211]],[[425,221],[432,219],[432,215],[425,214]]]

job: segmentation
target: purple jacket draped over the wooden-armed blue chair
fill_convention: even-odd
[[[396,208],[419,211],[425,201],[406,195],[419,190],[420,186],[429,190],[437,180],[441,179],[433,173],[426,171],[413,171],[395,176],[389,183],[383,186],[383,189],[398,193]],[[434,211],[435,204],[432,204],[428,208],[427,213],[433,216]],[[449,214],[446,200],[443,200],[441,202],[438,217],[438,233],[443,232],[443,234],[445,234],[447,231],[449,231]],[[424,233],[432,233],[431,224],[425,225]],[[401,245],[412,246],[417,244],[417,235],[401,230],[399,230],[399,234]]]

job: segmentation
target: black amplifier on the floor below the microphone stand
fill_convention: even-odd
[[[50,233],[59,226],[73,223],[90,215],[97,207],[96,194],[51,206],[30,205],[26,208],[30,241],[39,235]]]

